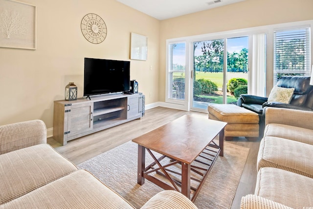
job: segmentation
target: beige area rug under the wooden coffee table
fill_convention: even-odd
[[[199,209],[229,209],[239,184],[249,148],[224,143],[224,157],[218,157],[203,184],[195,205]],[[146,152],[146,158],[150,155]],[[148,162],[147,162],[148,161]],[[146,160],[146,165],[152,158]],[[104,184],[140,208],[163,189],[148,180],[137,184],[137,144],[129,141],[98,155],[78,167],[89,170]]]

